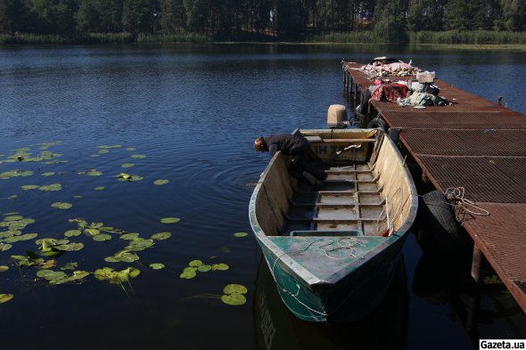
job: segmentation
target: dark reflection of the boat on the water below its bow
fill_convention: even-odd
[[[289,349],[404,349],[407,342],[408,294],[403,259],[382,304],[358,322],[327,325],[304,322],[284,305],[264,258],[254,292],[255,348]]]

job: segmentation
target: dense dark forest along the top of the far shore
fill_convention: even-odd
[[[526,0],[0,0],[0,34],[526,30]],[[395,36],[396,37],[396,36]]]

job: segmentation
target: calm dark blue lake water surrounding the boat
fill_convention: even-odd
[[[350,45],[1,48],[0,232],[37,233],[0,249],[0,265],[9,267],[0,273],[0,294],[14,295],[0,304],[3,348],[471,348],[447,304],[413,293],[422,256],[413,237],[381,309],[359,325],[334,328],[287,313],[251,237],[248,203],[268,161],[253,151],[253,139],[325,127],[329,105],[345,103],[340,61],[380,55],[412,59],[452,85],[491,101],[503,95],[510,108],[526,112],[524,53]],[[119,181],[120,173],[142,179]],[[42,191],[55,183],[62,190]],[[28,185],[35,188],[21,189]],[[53,208],[57,202],[72,206]],[[34,222],[9,224],[20,221],[16,216]],[[162,223],[167,217],[180,221]],[[104,259],[119,259],[129,240],[83,233],[68,239],[84,248],[47,266],[68,275],[139,269],[129,284],[90,275],[52,285],[37,278],[37,268],[14,265],[10,256],[37,253],[38,239],[64,239],[79,218],[146,240],[159,232],[171,237],[144,243],[140,260],[111,263]],[[181,279],[193,260],[214,269]],[[61,270],[68,263],[77,265]],[[166,267],[154,270],[154,263]],[[221,301],[232,283],[248,289],[246,304]]]

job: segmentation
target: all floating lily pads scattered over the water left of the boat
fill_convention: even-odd
[[[17,178],[12,181],[17,181],[19,183],[12,188],[20,188],[19,193],[22,198],[27,195],[27,191],[34,191],[36,193],[38,193],[38,191],[62,191],[61,183],[58,183],[56,180],[49,181],[49,179],[57,178],[57,175],[68,174],[66,171],[63,171],[63,169],[53,169],[54,171],[45,169],[40,172],[40,167],[35,167],[34,165],[31,166],[29,164],[24,166],[22,164],[28,162],[41,162],[41,164],[49,165],[65,163],[66,160],[62,159],[62,154],[48,151],[53,145],[59,143],[61,142],[41,143],[32,145],[28,148],[12,151],[12,153],[7,156],[0,155],[0,164],[11,163],[12,167],[12,169],[3,169],[5,171],[0,173],[0,182]],[[96,154],[93,154],[92,157],[104,157],[104,155],[120,149],[121,147],[121,145],[98,146]],[[127,148],[126,150],[136,151],[135,148]],[[130,153],[128,157],[130,158],[129,160],[123,162],[120,166],[116,166],[116,168],[120,168],[120,170],[113,173],[106,169],[102,171],[96,167],[82,169],[82,171],[76,171],[78,169],[75,169],[73,172],[79,175],[78,181],[83,182],[90,181],[90,177],[104,176],[111,177],[113,181],[116,176],[117,179],[122,182],[136,182],[143,180],[143,177],[136,175],[135,172],[133,172],[134,174],[128,174],[119,171],[127,172],[128,170],[125,169],[135,167],[135,164],[132,163],[132,161],[139,162],[140,159],[146,158],[146,155]],[[36,168],[38,170],[36,170]],[[25,178],[34,175],[38,175],[33,177],[35,183],[21,185],[21,181],[26,181]],[[157,186],[167,185],[168,183],[168,179],[156,179],[153,181],[153,184]],[[96,187],[95,185],[84,187],[91,188],[95,191],[105,190],[105,187],[98,184]],[[49,194],[49,196],[53,195],[54,193]],[[7,198],[15,199],[17,196],[18,193]],[[38,196],[40,196],[40,194],[38,194]],[[78,199],[83,196],[73,197]],[[69,209],[73,207],[73,204],[64,201],[64,199],[59,199],[59,201],[54,202],[53,200],[46,200],[45,203],[48,208],[50,205],[52,208],[56,209]],[[137,267],[127,265],[140,265],[141,257],[139,255],[142,255],[141,252],[143,250],[155,248],[156,244],[160,244],[159,242],[162,240],[168,240],[172,235],[171,232],[165,231],[144,236],[138,232],[119,230],[103,223],[92,222],[89,224],[85,219],[76,218],[71,219],[70,222],[77,224],[77,227],[63,232],[62,236],[59,234],[57,237],[57,234],[54,233],[53,237],[44,236],[45,238],[41,238],[43,236],[42,234],[23,232],[27,225],[35,223],[35,220],[32,218],[23,217],[19,215],[19,213],[12,212],[2,214],[0,219],[2,219],[0,222],[0,253],[5,250],[16,248],[16,243],[19,241],[34,240],[34,248],[29,248],[32,250],[28,250],[27,247],[24,246],[22,249],[25,251],[25,255],[21,255],[21,253],[18,253],[19,255],[12,255],[11,263],[9,264],[17,265],[19,269],[33,271],[37,277],[36,281],[44,281],[49,284],[60,285],[63,283],[82,283],[91,276],[92,279],[95,277],[96,280],[119,284],[125,292],[127,292],[127,289],[123,284],[127,283],[129,285],[129,282],[141,273]],[[179,221],[180,218],[173,216],[160,218],[161,224],[177,224]],[[234,233],[234,237],[244,237],[246,235],[247,233],[245,232]],[[81,266],[78,266],[78,262],[70,261],[76,255],[82,254],[83,249],[101,247],[98,246],[100,244],[111,244],[111,247],[119,245],[119,248],[115,249],[116,252],[112,256],[104,258],[105,263],[114,264],[111,265],[112,267],[104,266],[106,264],[102,262],[103,267],[95,268],[95,271],[92,269],[90,269],[90,271],[84,271]],[[228,251],[230,251],[229,248]],[[150,264],[149,268],[152,270],[161,270],[165,268],[165,265],[156,262]],[[193,260],[187,267],[185,267],[183,273],[180,274],[180,277],[183,279],[192,279],[198,273],[226,271],[228,269],[229,266],[226,264],[205,264],[201,260]],[[0,273],[12,273],[9,270],[10,267],[8,265],[0,265]],[[129,287],[131,289],[131,285],[129,285]],[[233,289],[233,287],[229,287],[228,289],[225,288],[225,294],[223,296],[216,295],[216,297],[221,298],[223,302],[229,305],[242,305],[246,302],[246,298],[243,296],[243,294],[246,293],[246,288],[243,288],[244,287],[242,286],[239,287],[239,289]],[[0,294],[0,304],[12,300],[13,295],[9,294],[7,291],[0,290],[0,293],[4,293]]]

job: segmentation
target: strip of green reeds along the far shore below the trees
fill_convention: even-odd
[[[0,45],[99,45],[99,44],[251,44],[251,45],[430,45],[435,48],[469,50],[526,51],[526,32],[496,32],[489,30],[416,32],[398,42],[374,37],[373,31],[326,33],[304,37],[277,37],[255,33],[238,33],[213,37],[200,33],[131,34],[90,33],[72,37],[59,35],[14,34],[0,35]]]

